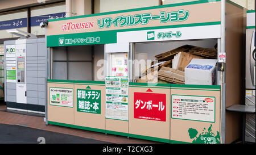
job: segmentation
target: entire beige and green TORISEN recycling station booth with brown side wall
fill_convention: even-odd
[[[163,143],[232,143],[241,115],[226,107],[242,103],[243,30],[243,8],[220,0],[51,19],[46,123]],[[167,32],[175,35],[159,35]],[[136,52],[186,41],[217,43],[226,56],[216,85],[135,82]],[[191,102],[207,111],[189,112]]]

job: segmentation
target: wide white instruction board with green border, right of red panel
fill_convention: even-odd
[[[215,122],[215,97],[172,95],[172,119]]]

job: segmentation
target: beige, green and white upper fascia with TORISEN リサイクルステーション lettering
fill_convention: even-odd
[[[212,14],[212,12],[216,13]],[[144,30],[148,32],[152,31],[152,33],[148,33],[147,36],[143,33],[142,36],[145,39],[173,40],[183,36],[183,28],[185,27],[200,27],[200,30],[205,26],[220,26],[220,17],[220,0],[216,0],[213,3],[204,0],[104,12],[81,17],[53,19],[49,20],[47,27],[47,47],[119,43],[118,33]],[[164,30],[170,28],[180,28],[180,30]],[[212,27],[206,27],[205,29],[207,29],[205,30],[207,32],[209,32],[209,30],[214,31],[213,33],[216,35],[213,38],[219,36],[220,27],[217,27],[217,31],[212,30]],[[160,31],[156,32],[156,30]],[[188,34],[190,34],[191,31],[195,30],[189,30]],[[195,31],[193,35],[199,32]],[[184,31],[184,33],[187,33],[187,31]],[[135,35],[141,38],[141,33],[135,33]],[[187,37],[191,36],[192,35],[186,35],[184,37],[187,39]],[[98,38],[96,39],[98,41],[84,41],[92,37],[94,40]],[[131,34],[125,35],[124,37],[136,38]],[[59,38],[64,38],[63,44],[59,44]],[[74,41],[75,39],[79,39],[80,41]]]

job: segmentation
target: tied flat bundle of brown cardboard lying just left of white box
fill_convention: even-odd
[[[158,78],[167,82],[184,84],[184,72],[173,68],[162,67],[158,72]]]

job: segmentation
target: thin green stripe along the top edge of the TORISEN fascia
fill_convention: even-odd
[[[216,0],[216,2],[219,2],[219,1],[221,1],[221,0]],[[196,5],[196,4],[200,4],[200,3],[209,3],[209,1],[208,1],[208,0],[201,0],[201,1],[193,1],[193,2],[176,3],[176,4],[170,4],[170,5],[150,6],[150,7],[142,7],[142,8],[136,8],[136,9],[128,9],[128,10],[101,12],[101,13],[98,13],[98,14],[71,16],[71,17],[68,17],[68,18],[59,18],[59,19],[49,19],[48,22],[55,22],[55,21],[69,20],[69,19],[77,19],[77,18],[86,18],[86,17],[91,17],[91,16],[110,15],[110,14],[120,14],[120,13],[124,13],[124,12],[151,10],[151,9],[159,9],[159,8],[165,8],[165,7],[175,7],[175,6],[185,6],[185,5]]]

